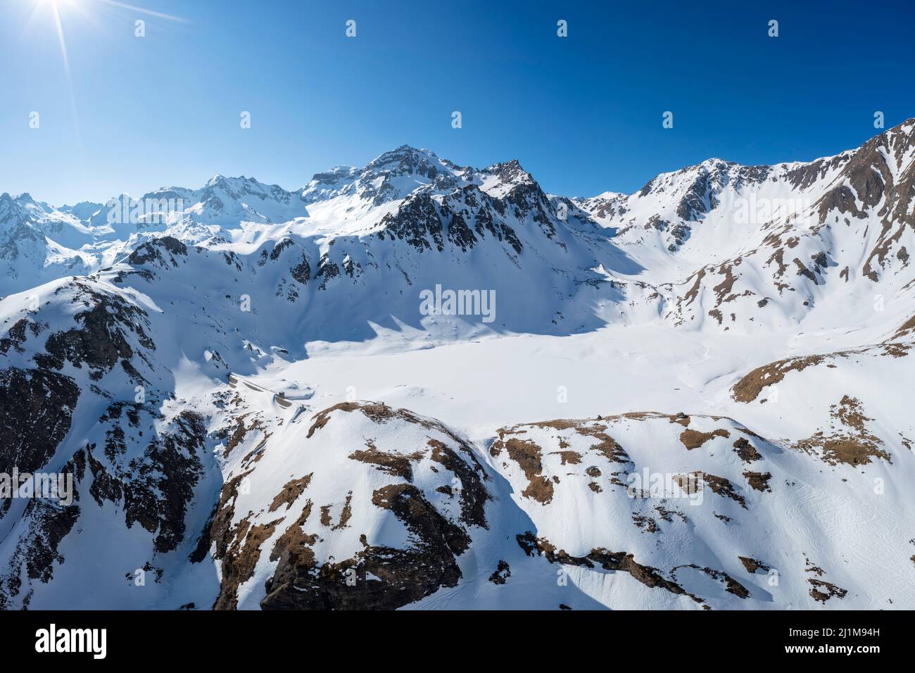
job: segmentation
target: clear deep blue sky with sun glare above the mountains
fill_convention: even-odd
[[[69,79],[51,2],[0,0],[0,192],[56,204],[216,173],[293,189],[404,143],[518,158],[554,193],[628,192],[707,157],[834,154],[878,133],[877,110],[887,128],[915,116],[910,0],[130,3],[183,22],[58,0]]]

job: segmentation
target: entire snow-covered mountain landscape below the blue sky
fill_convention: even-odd
[[[0,606],[911,608],[913,177],[3,194]]]

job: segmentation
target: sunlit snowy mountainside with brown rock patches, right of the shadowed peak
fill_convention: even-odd
[[[855,311],[862,302],[851,296],[904,291],[915,241],[913,134],[909,121],[803,164],[710,159],[662,174],[629,197],[577,203],[617,232],[623,251],[646,259],[651,285],[636,299],[646,309],[696,330],[792,329],[821,303],[845,301]],[[687,260],[671,264],[692,272],[665,278],[657,269],[666,260],[659,264],[646,247]]]

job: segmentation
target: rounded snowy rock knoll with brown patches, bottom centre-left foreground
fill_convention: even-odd
[[[221,563],[216,608],[393,609],[458,584],[491,499],[466,440],[371,403],[241,428],[203,537]]]

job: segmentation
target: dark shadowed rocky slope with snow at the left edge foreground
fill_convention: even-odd
[[[103,604],[124,583],[109,566],[152,570],[157,554],[185,541],[211,461],[207,421],[159,387],[153,326],[131,295],[91,278],[40,295],[22,308],[7,300],[0,314],[0,472],[40,473],[59,486],[52,497],[32,498],[38,486],[4,496],[0,604],[28,607],[38,593],[47,605],[55,592],[79,601],[84,581],[102,582]]]

